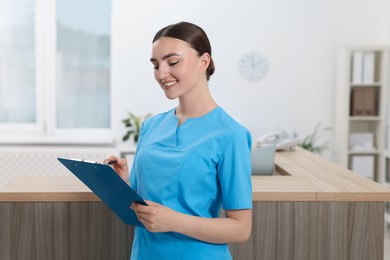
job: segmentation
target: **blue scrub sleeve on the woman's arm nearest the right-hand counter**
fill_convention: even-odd
[[[244,129],[231,136],[223,151],[218,178],[225,210],[252,208],[251,147],[251,136]]]

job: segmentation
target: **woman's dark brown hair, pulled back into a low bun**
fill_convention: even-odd
[[[157,41],[161,37],[171,37],[179,39],[188,43],[194,50],[197,51],[198,55],[201,56],[204,53],[210,54],[210,64],[206,70],[207,80],[213,75],[215,71],[214,62],[211,58],[211,45],[209,38],[205,31],[199,26],[189,23],[180,22],[176,24],[168,25],[159,30],[153,38],[153,42]]]

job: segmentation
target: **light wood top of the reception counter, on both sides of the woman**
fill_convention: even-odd
[[[252,176],[253,201],[390,201],[387,187],[301,148],[277,152],[275,166]],[[99,200],[74,176],[16,177],[0,189],[0,202]]]

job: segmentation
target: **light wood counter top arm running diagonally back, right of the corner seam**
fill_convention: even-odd
[[[289,174],[316,191],[316,201],[389,201],[390,189],[318,154],[297,147],[278,152],[279,172]]]

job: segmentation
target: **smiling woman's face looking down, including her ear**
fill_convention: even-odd
[[[161,37],[153,43],[154,77],[169,99],[182,97],[199,87],[209,63],[207,53],[198,53],[186,42]]]

